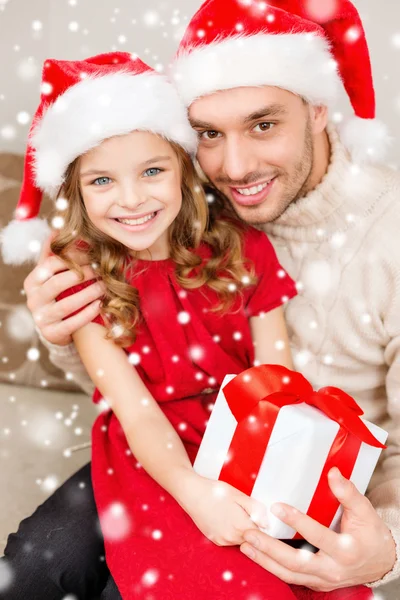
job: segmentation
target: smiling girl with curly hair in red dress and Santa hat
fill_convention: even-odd
[[[263,233],[205,197],[195,134],[161,76],[118,53],[47,61],[44,81],[28,158],[38,186],[61,189],[52,250],[79,271],[68,252],[84,246],[107,288],[74,341],[104,408],[92,476],[122,598],[303,597],[237,548],[263,522],[257,503],[192,468],[224,376],[292,368],[293,281]],[[17,214],[37,208],[25,187]]]

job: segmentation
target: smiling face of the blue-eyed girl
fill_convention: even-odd
[[[140,258],[169,256],[168,230],[182,205],[181,169],[172,146],[146,131],[105,140],[80,160],[89,219]]]

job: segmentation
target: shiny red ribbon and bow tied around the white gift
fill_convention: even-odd
[[[248,496],[253,491],[283,406],[305,402],[340,425],[307,511],[310,517],[326,527],[330,526],[339,508],[328,484],[330,469],[338,467],[349,479],[362,442],[386,448],[360,419],[363,411],[354,398],[335,387],[324,387],[315,392],[303,375],[286,367],[261,365],[247,369],[224,387],[224,394],[238,424],[219,479]],[[301,536],[296,534],[295,537]]]

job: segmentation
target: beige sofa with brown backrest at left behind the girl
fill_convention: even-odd
[[[22,172],[22,156],[0,153],[0,228],[12,217]],[[43,212],[51,210],[45,199]],[[96,414],[39,342],[22,289],[30,269],[0,263],[0,553],[19,521],[90,460],[88,448],[65,451],[90,440]]]

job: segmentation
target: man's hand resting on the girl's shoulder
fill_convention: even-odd
[[[101,281],[98,281],[56,302],[61,292],[81,281],[77,273],[69,270],[60,258],[51,254],[52,237],[50,236],[45,242],[38,264],[25,279],[24,290],[28,308],[43,337],[52,344],[65,346],[72,342],[71,336],[75,331],[90,323],[99,314],[100,298],[104,294],[105,287]],[[74,251],[70,256],[74,262],[81,265],[84,281],[97,278],[84,253]],[[84,306],[86,308],[81,312],[63,320]]]

